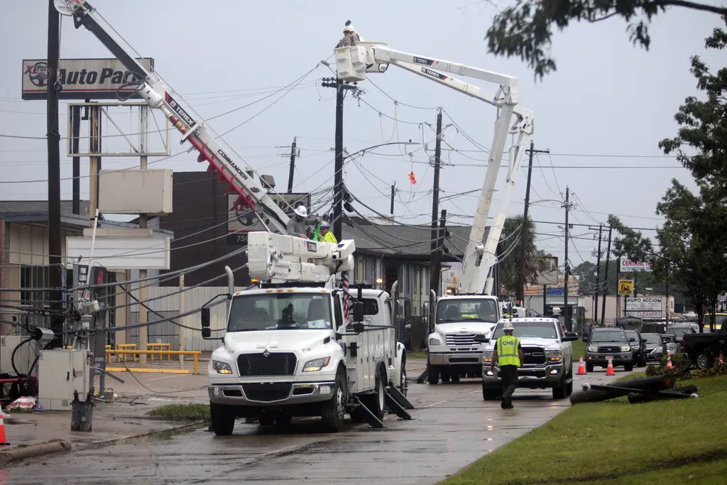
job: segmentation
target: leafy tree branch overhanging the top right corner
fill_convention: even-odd
[[[727,15],[726,7],[686,0],[516,0],[494,17],[487,31],[487,47],[494,55],[520,57],[535,71],[536,78],[555,71],[550,55],[553,31],[562,31],[571,22],[596,23],[622,17],[633,44],[648,50],[651,36],[648,24],[667,7]]]

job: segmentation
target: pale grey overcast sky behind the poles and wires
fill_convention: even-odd
[[[577,204],[571,223],[582,224],[605,223],[613,213],[632,227],[659,225],[661,219],[654,208],[672,177],[691,180],[657,146],[659,140],[675,134],[673,115],[680,103],[696,94],[696,83],[688,71],[689,57],[702,55],[714,66],[725,60],[723,52],[704,49],[704,38],[718,25],[718,16],[686,9],[671,9],[655,17],[649,52],[632,47],[619,18],[572,25],[555,36],[558,71],[541,83],[534,81],[532,71],[521,60],[487,54],[484,36],[495,7],[483,1],[96,0],[93,5],[141,55],[155,59],[158,73],[204,118],[260,100],[220,116],[210,125],[224,133],[262,111],[224,139],[250,167],[272,174],[279,191],[286,190],[285,153],[289,148],[285,145],[293,137],[301,149],[294,190],[320,191],[332,186],[334,90],[320,87],[321,78],[332,76],[332,71],[319,65],[294,84],[294,89],[261,98],[298,79],[319,61],[332,60],[332,47],[340,39],[345,20],[352,20],[366,40],[383,41],[393,49],[517,76],[521,104],[535,112],[535,146],[551,152],[550,156],[537,156],[534,162],[531,201],[561,200],[567,186],[571,201]],[[0,51],[0,135],[43,137],[45,104],[20,99],[20,68],[23,59],[46,56],[47,1],[9,2],[4,20],[0,31],[6,47]],[[71,19],[64,17],[61,57],[111,55],[91,33],[74,30]],[[382,90],[364,81],[360,83],[365,91],[362,102],[348,97],[345,103],[344,145],[348,152],[406,140],[423,140],[427,150],[422,145],[407,148],[414,151],[412,161],[394,145],[348,163],[345,181],[358,198],[388,214],[390,185],[395,183],[395,215],[410,223],[431,219],[433,169],[428,162],[438,106],[446,110],[443,162],[451,164],[442,170],[441,195],[481,188],[487,154],[480,146],[491,144],[494,108],[396,68],[371,75],[370,80]],[[395,105],[391,98],[399,103]],[[62,102],[60,109],[63,137],[68,124],[66,104]],[[105,129],[113,131],[113,127]],[[172,153],[180,151],[178,140],[172,133]],[[63,140],[64,155],[66,149]],[[45,151],[44,140],[0,137],[0,180],[45,179]],[[61,163],[62,177],[71,177],[71,159],[63,156]],[[135,159],[103,161],[105,168],[137,163]],[[87,159],[81,164],[81,173],[87,174]],[[186,153],[152,167],[204,169]],[[409,182],[410,170],[417,178],[415,185]],[[505,171],[501,170],[498,189],[504,181]],[[525,185],[523,169],[508,209],[510,215],[522,213]],[[0,199],[47,198],[45,183],[0,187]],[[71,180],[63,180],[62,187],[63,198],[71,199]],[[81,196],[88,197],[87,178],[81,182]],[[477,197],[474,193],[448,199],[441,208],[448,210],[453,223],[468,223]],[[498,206],[496,193],[491,215]],[[369,213],[364,207],[357,208]],[[531,216],[562,225],[564,214],[559,202],[545,201],[531,207]],[[541,223],[538,232],[539,245],[562,258],[558,225]],[[595,241],[587,228],[576,226],[571,234],[581,238],[572,241],[569,259],[573,265],[593,260],[590,252]]]

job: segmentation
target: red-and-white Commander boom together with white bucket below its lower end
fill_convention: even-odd
[[[166,86],[150,66],[132,55],[133,49],[124,47],[120,39],[111,36],[101,25],[96,9],[85,0],[55,0],[56,9],[63,15],[73,16],[76,28],[84,26],[93,33],[124,67],[137,73],[134,82],[137,94],[164,113],[172,125],[182,134],[180,144],[188,141],[190,151],[199,153],[197,161],[209,163],[208,171],[217,172],[218,180],[228,184],[228,191],[238,198],[232,209],[248,207],[273,234],[264,231],[249,234],[248,261],[250,278],[258,281],[284,283],[285,281],[310,281],[321,283],[331,280],[336,273],[353,269],[352,240],[340,241],[338,246],[286,236],[289,217],[278,207],[262,184],[251,177],[217,143],[206,129],[204,121],[190,114],[182,106],[169,86]],[[103,21],[103,20],[102,20]],[[311,262],[312,261],[312,262]]]

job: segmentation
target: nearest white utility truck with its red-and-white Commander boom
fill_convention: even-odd
[[[395,340],[392,298],[361,286],[355,298],[349,293],[354,241],[332,244],[288,235],[286,213],[161,77],[111,35],[94,7],[85,0],[55,0],[55,6],[137,74],[137,95],[164,113],[182,134],[180,143],[188,142],[198,161],[206,161],[230,193],[238,194],[233,209],[248,207],[266,227],[273,226],[249,233],[249,276],[260,281],[258,287],[224,295],[225,335],[207,370],[214,433],[231,434],[238,417],[284,425],[292,417],[321,416],[331,432],[342,430],[344,414],[377,428],[386,411],[411,419],[406,353]],[[395,288],[396,283],[392,292]],[[201,308],[206,339],[212,338],[214,300]]]

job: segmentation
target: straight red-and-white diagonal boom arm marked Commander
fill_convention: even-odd
[[[228,184],[228,192],[238,194],[233,209],[252,209],[263,223],[272,223],[278,231],[286,234],[286,223],[289,217],[278,207],[278,204],[268,196],[255,177],[251,177],[244,169],[238,166],[235,161],[222,150],[222,147],[214,140],[212,134],[204,127],[204,121],[194,119],[189,112],[174,99],[159,76],[138,62],[97,22],[95,9],[85,0],[55,0],[56,9],[63,15],[72,15],[76,28],[83,25],[93,33],[113,55],[119,58],[121,63],[129,71],[138,74],[139,82],[137,93],[152,108],[161,110],[167,119],[182,133],[182,140],[189,140],[194,149],[199,152],[197,161],[209,163],[208,172],[217,172],[218,180]],[[190,151],[193,149],[190,148]],[[265,217],[257,211],[255,203],[259,204]]]

